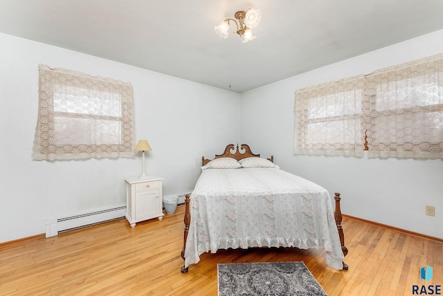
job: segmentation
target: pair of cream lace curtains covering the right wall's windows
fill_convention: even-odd
[[[443,54],[300,89],[295,123],[295,154],[443,158]]]

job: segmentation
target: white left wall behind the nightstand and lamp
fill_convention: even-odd
[[[125,205],[135,158],[33,161],[38,65],[131,82],[136,138],[163,194],[190,192],[201,156],[239,142],[238,93],[0,33],[0,243],[45,232],[45,221]],[[155,57],[147,57],[155,58]],[[204,68],[201,71],[205,71]]]

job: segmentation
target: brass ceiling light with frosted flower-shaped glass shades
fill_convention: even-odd
[[[237,33],[240,37],[244,37],[242,43],[255,39],[255,36],[252,35],[251,28],[255,28],[260,23],[262,12],[258,9],[249,8],[246,11],[239,10],[235,12],[234,17],[237,20],[225,19],[224,21],[221,21],[221,24],[215,26],[215,33],[223,39],[228,38],[229,22],[233,21],[237,26],[237,30],[235,30],[234,33]]]

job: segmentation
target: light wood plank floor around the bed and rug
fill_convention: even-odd
[[[0,244],[0,295],[217,295],[217,263],[266,261],[304,261],[328,295],[412,295],[413,285],[443,285],[443,243],[349,218],[347,271],[327,267],[322,250],[255,248],[205,253],[181,274],[183,213]],[[426,264],[427,282],[419,277]]]

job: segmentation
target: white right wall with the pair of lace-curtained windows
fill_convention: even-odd
[[[443,238],[443,160],[293,154],[296,89],[443,52],[443,30],[290,77],[241,95],[241,139],[284,170],[342,194],[342,212]],[[435,206],[435,217],[425,205]]]

